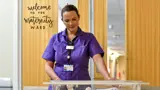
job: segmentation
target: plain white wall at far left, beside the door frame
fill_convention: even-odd
[[[0,2],[0,77],[13,78],[14,0]]]

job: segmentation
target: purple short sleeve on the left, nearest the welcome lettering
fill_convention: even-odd
[[[53,44],[54,44],[54,40],[55,40],[55,36],[52,36],[52,38],[50,39],[43,55],[42,58],[45,60],[49,60],[54,62],[55,61],[55,50],[53,48]]]

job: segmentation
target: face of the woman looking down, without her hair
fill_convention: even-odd
[[[70,32],[77,31],[79,26],[79,17],[75,11],[66,11],[63,13],[63,23]]]

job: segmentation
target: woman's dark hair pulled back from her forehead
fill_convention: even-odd
[[[80,15],[79,15],[79,13],[78,13],[78,9],[74,6],[74,5],[72,5],[72,4],[68,4],[68,5],[66,5],[63,9],[62,9],[62,11],[61,11],[61,17],[62,17],[62,19],[63,19],[63,13],[64,12],[69,12],[69,11],[75,11],[76,12],[76,14],[78,15],[78,17],[80,17]]]

